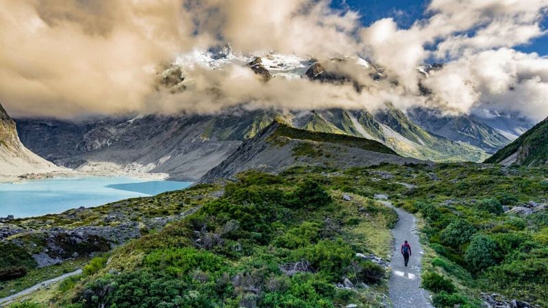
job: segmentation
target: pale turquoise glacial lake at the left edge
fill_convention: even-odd
[[[93,207],[125,198],[182,190],[192,183],[150,181],[127,177],[78,177],[0,183],[0,217],[58,214],[77,207]]]

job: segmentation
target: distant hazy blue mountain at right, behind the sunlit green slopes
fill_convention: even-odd
[[[407,114],[414,123],[427,131],[477,146],[487,153],[495,153],[515,139],[512,135],[491,127],[473,114],[448,116],[441,114],[438,110],[425,108],[414,108],[408,110]]]

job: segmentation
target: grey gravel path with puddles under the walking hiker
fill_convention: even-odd
[[[380,201],[397,211],[399,221],[392,233],[395,244],[390,267],[390,299],[394,308],[433,308],[429,303],[429,294],[421,288],[421,257],[423,248],[416,232],[416,218],[403,209],[393,207],[388,201]],[[411,245],[412,255],[408,267],[403,265],[400,247],[407,240]]]

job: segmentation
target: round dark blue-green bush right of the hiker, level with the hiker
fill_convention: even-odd
[[[486,235],[476,235],[464,253],[464,261],[471,272],[482,272],[497,264],[499,247],[497,243]]]

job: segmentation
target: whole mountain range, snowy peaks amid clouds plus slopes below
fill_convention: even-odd
[[[355,61],[370,72],[373,81],[386,78],[382,68],[361,57],[332,61]],[[357,91],[362,87],[348,75],[330,71],[315,60],[275,53],[234,54],[228,45],[181,55],[158,74],[157,87],[185,91],[196,82],[186,73],[189,66],[214,70],[228,64],[245,66],[264,82],[272,78],[308,78],[322,83],[349,83]],[[419,70],[425,71],[425,76],[429,71]],[[404,112],[390,103],[375,113],[237,105],[212,114],[180,112],[82,121],[21,118],[16,122],[23,144],[59,166],[82,171],[108,168],[113,172],[159,172],[172,179],[197,181],[275,118],[297,129],[375,140],[403,157],[434,162],[482,162],[532,127],[523,118],[453,116],[425,108]]]

